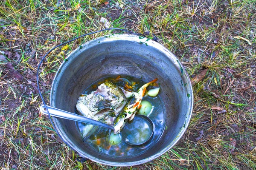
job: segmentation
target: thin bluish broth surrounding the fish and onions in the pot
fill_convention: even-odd
[[[99,79],[97,82],[94,82],[88,88],[86,88],[83,94],[90,94],[92,91],[95,91],[100,84],[109,80],[113,82],[113,80],[115,80],[116,77],[118,77],[118,75],[103,77]],[[133,91],[137,91],[142,85],[146,83],[136,77],[131,77],[127,75],[121,75],[120,77],[123,80],[123,82],[129,82],[130,84],[136,83],[133,86],[134,87]],[[119,87],[125,88],[125,85],[123,82],[117,82],[117,83],[113,82],[113,83],[118,85]],[[151,113],[148,114],[148,117],[152,120],[155,126],[154,136],[150,142],[139,147],[138,146],[133,147],[124,142],[125,139],[122,139],[122,136],[120,135],[120,133],[116,137],[117,138],[119,137],[121,142],[119,142],[118,144],[114,142],[113,143],[107,142],[106,139],[108,138],[106,136],[108,135],[109,130],[103,127],[95,127],[94,133],[89,135],[87,139],[84,140],[84,142],[87,143],[90,147],[92,147],[96,152],[106,154],[108,156],[115,156],[115,157],[118,156],[118,157],[124,157],[124,158],[128,156],[136,156],[136,155],[143,154],[146,151],[145,148],[150,149],[151,147],[153,147],[154,144],[156,144],[157,141],[160,139],[160,137],[163,134],[163,131],[165,130],[165,121],[166,121],[165,107],[159,94],[156,97],[145,96],[143,97],[143,100],[147,100],[153,106]],[[136,125],[134,126],[136,127],[140,125],[140,122],[136,122],[136,121],[131,121],[131,123],[135,123]],[[85,127],[85,124],[81,122],[76,122],[76,125],[81,133],[81,136],[83,137],[82,132],[83,132],[83,128]],[[147,125],[143,124],[140,126],[144,126],[145,132],[149,133],[148,127],[146,127]],[[140,142],[141,140],[145,140],[145,138],[148,135],[148,133],[143,133],[142,131],[137,133],[139,137],[136,140],[134,139],[135,142],[136,141]],[[128,140],[132,140],[132,139],[128,139]]]

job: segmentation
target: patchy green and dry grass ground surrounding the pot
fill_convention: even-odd
[[[105,5],[106,4],[106,5]],[[78,157],[39,114],[35,72],[55,45],[111,26],[154,33],[186,66],[191,77],[208,68],[194,86],[195,105],[186,134],[168,153],[127,169],[256,169],[255,0],[4,0],[0,2],[0,167],[2,169],[122,169]],[[40,77],[49,101],[55,71],[84,37],[52,52]],[[251,44],[251,45],[250,45]],[[16,81],[6,63],[23,75]],[[222,107],[225,112],[212,110]],[[125,168],[124,168],[125,169]]]

